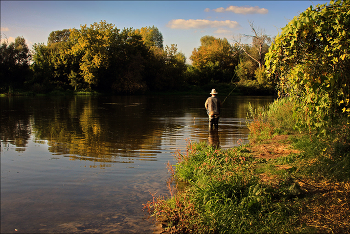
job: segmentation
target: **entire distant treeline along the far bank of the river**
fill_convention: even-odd
[[[136,94],[238,83],[242,90],[272,93],[264,72],[270,38],[257,34],[252,44],[204,36],[186,64],[177,45],[163,45],[157,27],[120,30],[105,21],[80,29],[53,31],[47,45],[30,51],[23,37],[5,41],[0,50],[0,92],[97,91]]]

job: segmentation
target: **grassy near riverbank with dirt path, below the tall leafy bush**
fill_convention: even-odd
[[[190,142],[175,155],[170,196],[145,205],[162,232],[349,233],[349,124],[296,131],[287,99],[250,114],[249,145]]]

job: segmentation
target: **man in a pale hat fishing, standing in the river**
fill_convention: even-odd
[[[215,89],[212,89],[210,94],[211,97],[206,100],[204,105],[209,116],[209,129],[213,129],[213,127],[217,129],[219,124],[221,102],[215,96],[218,94]]]

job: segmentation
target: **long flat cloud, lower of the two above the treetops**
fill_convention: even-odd
[[[178,29],[190,29],[190,28],[219,28],[219,27],[228,27],[228,28],[236,28],[239,24],[237,21],[224,20],[224,21],[211,21],[211,20],[203,20],[203,19],[175,19],[169,21],[167,27],[169,28],[178,28]]]

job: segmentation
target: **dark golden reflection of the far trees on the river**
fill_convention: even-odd
[[[2,98],[0,136],[3,142],[25,147],[32,129],[36,139],[47,140],[51,152],[69,155],[71,160],[94,161],[102,167],[116,161],[130,163],[133,157],[154,160],[162,144],[161,136],[184,127],[177,118],[186,114],[206,116],[205,99],[168,96]],[[227,108],[242,112],[238,116],[245,118],[249,98],[242,102],[243,107],[242,103],[230,103],[228,99],[223,116],[232,115],[225,111]],[[252,103],[261,105],[261,101]],[[193,127],[207,128],[207,125],[193,124]],[[208,137],[206,130],[195,134],[202,134],[203,139]],[[229,138],[226,134],[229,133],[220,132],[220,138]],[[210,141],[218,142],[218,134],[209,137]]]

